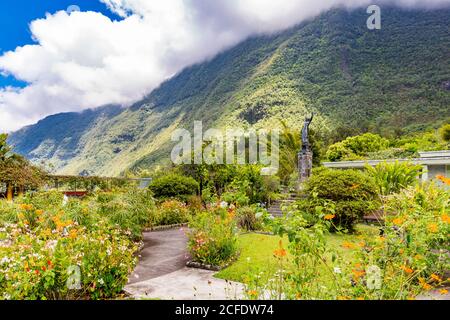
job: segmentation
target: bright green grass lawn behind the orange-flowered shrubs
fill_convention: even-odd
[[[344,242],[358,243],[358,238],[361,234],[378,235],[379,229],[366,225],[358,225],[357,233],[353,235],[329,235],[328,245],[338,250],[342,256],[351,261],[354,251],[351,249],[344,249],[342,244]],[[264,275],[273,274],[277,267],[277,260],[273,253],[279,248],[279,242],[282,241],[283,247],[288,247],[287,238],[280,238],[278,236],[262,235],[262,234],[244,234],[239,237],[239,247],[241,255],[239,259],[230,267],[220,271],[215,276],[220,279],[246,282],[247,274]]]

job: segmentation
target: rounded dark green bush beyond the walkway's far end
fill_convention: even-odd
[[[187,197],[198,193],[199,184],[193,178],[169,174],[154,180],[149,188],[157,198],[186,200]]]

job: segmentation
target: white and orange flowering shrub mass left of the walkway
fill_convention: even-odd
[[[0,224],[0,299],[111,298],[135,263],[135,245],[105,219],[90,229],[31,204]]]

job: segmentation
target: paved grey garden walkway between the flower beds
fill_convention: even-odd
[[[144,249],[125,291],[136,299],[240,299],[243,285],[214,278],[212,271],[186,268],[183,229],[144,233]]]

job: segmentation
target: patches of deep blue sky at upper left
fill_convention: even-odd
[[[120,20],[108,10],[105,4],[97,0],[1,0],[0,1],[0,56],[16,49],[18,46],[33,44],[29,23],[44,18],[45,14],[67,10],[71,5],[81,11],[96,11],[111,19]],[[0,87],[8,85],[25,86],[14,77],[0,75]]]

